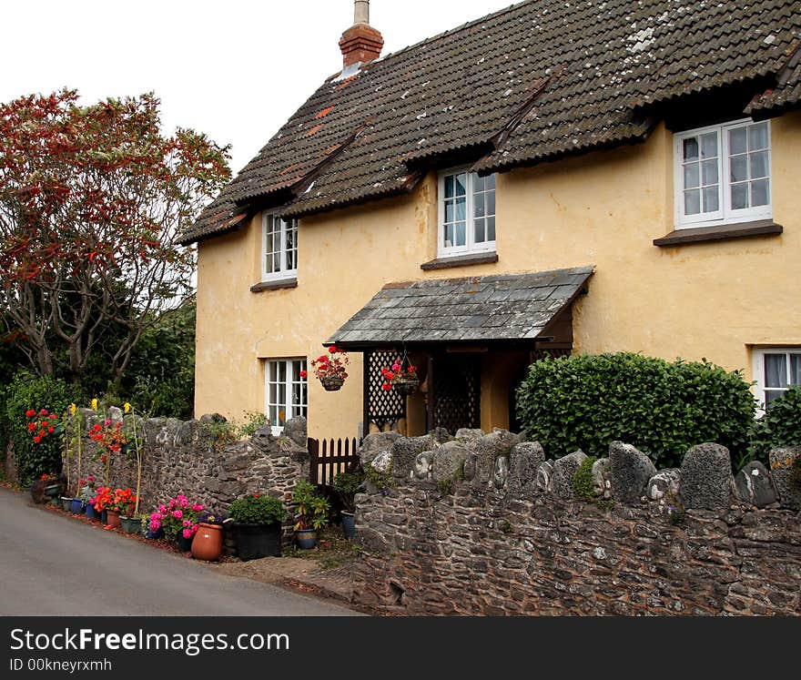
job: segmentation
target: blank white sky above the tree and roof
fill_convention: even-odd
[[[383,55],[512,0],[372,0]],[[238,172],[323,80],[352,0],[3,0],[0,101],[61,87],[84,103],[154,91],[167,131],[230,144]]]

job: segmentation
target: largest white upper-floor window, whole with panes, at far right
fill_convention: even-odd
[[[674,166],[676,228],[773,217],[767,121],[676,134]]]

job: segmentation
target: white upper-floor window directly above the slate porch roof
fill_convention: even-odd
[[[495,249],[495,176],[467,168],[440,173],[438,257]]]

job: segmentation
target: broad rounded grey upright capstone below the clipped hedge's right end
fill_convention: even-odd
[[[724,510],[731,501],[732,461],[725,446],[698,444],[682,461],[681,495],[684,507]]]

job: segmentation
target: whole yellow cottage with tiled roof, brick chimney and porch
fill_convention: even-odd
[[[544,354],[801,382],[801,4],[529,0],[330,76],[181,240],[198,412],[515,426]],[[301,371],[350,351],[340,391]],[[406,358],[420,389],[381,389]]]

